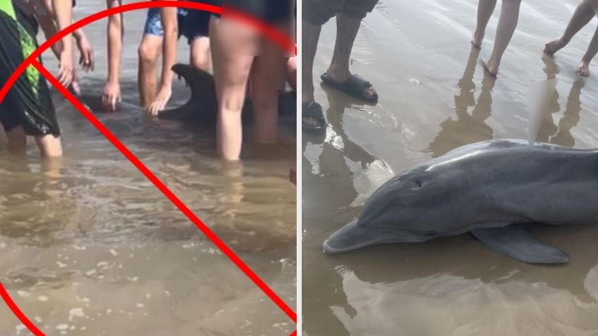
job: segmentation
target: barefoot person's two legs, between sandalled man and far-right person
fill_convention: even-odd
[[[517,27],[520,5],[521,0],[503,0],[501,4],[501,16],[499,25],[496,27],[494,49],[492,49],[490,58],[482,60],[484,68],[490,75],[496,76],[499,73],[501,59]],[[477,25],[471,40],[471,43],[477,48],[482,47],[486,26],[495,7],[496,0],[480,0],[477,4]]]

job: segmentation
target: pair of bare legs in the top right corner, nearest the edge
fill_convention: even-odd
[[[592,18],[594,18],[594,16],[596,16],[598,13],[594,8],[592,8],[592,3],[594,3],[594,8],[597,8],[595,3],[598,3],[598,1],[580,1],[580,4],[575,9],[571,20],[569,20],[569,24],[567,25],[565,32],[563,32],[563,35],[546,44],[546,47],[544,48],[544,52],[546,54],[552,55],[556,53],[556,51],[561,50],[571,41],[573,36],[575,36],[575,34],[582,29],[582,27],[585,27],[585,25],[590,23]],[[590,76],[590,62],[592,61],[592,58],[596,56],[596,54],[598,54],[598,27],[596,27],[594,37],[592,37],[590,45],[587,46],[587,51],[582,56],[575,73],[582,77]]]

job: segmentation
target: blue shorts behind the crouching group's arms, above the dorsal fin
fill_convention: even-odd
[[[194,11],[186,8],[178,8],[178,35],[187,37],[189,44],[195,39],[207,36],[210,13],[205,11]],[[164,29],[160,20],[160,8],[150,8],[147,11],[144,34],[163,36]]]

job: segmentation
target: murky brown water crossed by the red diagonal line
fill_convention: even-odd
[[[102,9],[80,2],[83,17]],[[145,12],[127,13],[123,99],[137,101]],[[86,29],[101,92],[105,21]],[[181,42],[181,61],[188,59]],[[55,62],[47,59],[49,69]],[[181,82],[175,102],[188,92]],[[56,99],[66,156],[42,166],[0,143],[0,281],[47,335],[288,335],[295,325],[70,104]],[[130,108],[98,118],[241,259],[295,306],[295,144],[256,147],[243,166],[214,157],[214,132]],[[293,135],[294,136],[294,135]],[[40,173],[41,172],[41,173]],[[29,335],[0,304],[0,335]]]

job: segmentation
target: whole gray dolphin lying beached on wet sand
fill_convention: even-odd
[[[469,144],[387,181],[324,251],[425,242],[471,232],[526,263],[566,263],[568,254],[521,224],[598,224],[598,151],[522,140]]]

